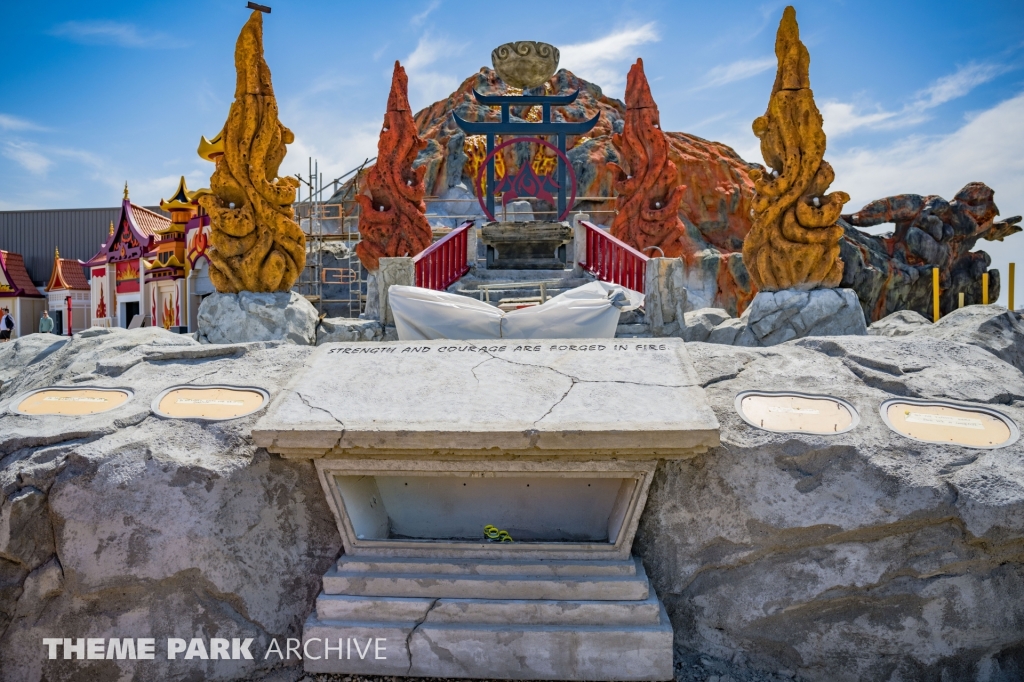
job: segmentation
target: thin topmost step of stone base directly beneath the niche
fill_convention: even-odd
[[[344,555],[340,572],[457,573],[461,576],[636,576],[633,559],[622,561],[480,561]]]

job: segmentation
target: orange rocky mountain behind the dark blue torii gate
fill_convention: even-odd
[[[482,216],[474,198],[476,171],[485,155],[482,136],[466,136],[452,119],[457,112],[467,121],[497,121],[498,112],[481,106],[473,98],[473,90],[484,94],[513,94],[510,88],[488,68],[480,69],[467,78],[449,97],[434,102],[415,116],[416,126],[427,145],[416,160],[417,167],[425,167],[423,175],[428,195],[438,199],[429,201],[429,213],[451,215],[443,220],[454,227],[462,215]],[[566,140],[567,156],[577,173],[579,197],[607,198],[602,201],[582,199],[577,210],[590,214],[597,223],[608,225],[614,216],[614,179],[616,172],[609,163],[622,163],[621,151],[612,142],[614,133],[625,127],[626,105],[605,95],[601,88],[578,78],[564,69],[559,70],[537,90],[545,94],[565,94],[580,90],[575,102],[552,110],[559,121],[580,122],[600,114],[597,126],[586,136],[569,136]],[[512,108],[513,120],[539,121],[540,108]],[[746,270],[742,266],[740,249],[743,237],[750,230],[751,199],[754,183],[748,177],[752,164],[740,159],[725,144],[712,142],[686,133],[667,132],[668,156],[676,166],[678,179],[675,184],[683,187],[679,204],[679,219],[694,244],[696,264],[691,268],[687,286],[694,300],[707,300],[729,308],[733,313],[754,296]],[[521,164],[529,163],[539,175],[550,172],[554,157],[536,144],[512,144],[495,159],[496,179],[501,180],[506,171],[515,173]],[[361,173],[354,183],[346,183],[335,195],[337,200],[351,198],[365,191],[367,173]],[[355,184],[356,186],[353,186]],[[334,198],[332,198],[334,199]],[[541,211],[554,211],[544,202],[531,200],[538,217]],[[346,211],[354,213],[349,203]],[[548,214],[550,215],[550,214]]]

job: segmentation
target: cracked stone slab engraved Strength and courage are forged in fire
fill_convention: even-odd
[[[325,344],[253,429],[271,452],[695,453],[718,421],[679,339]]]

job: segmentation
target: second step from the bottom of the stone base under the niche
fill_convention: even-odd
[[[659,606],[651,593],[643,601],[566,601],[551,599],[425,599],[353,597],[324,594],[316,598],[321,621],[381,623],[475,623],[502,625],[656,625]]]

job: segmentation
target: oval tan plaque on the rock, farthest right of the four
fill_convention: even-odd
[[[994,450],[1017,442],[1020,430],[1001,412],[941,400],[893,398],[880,409],[886,425],[922,442]]]

